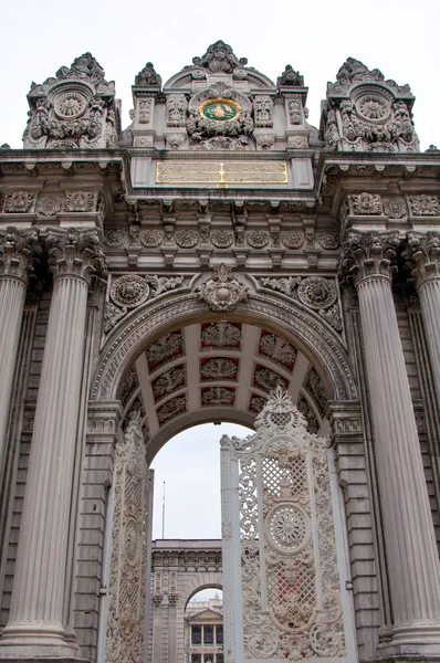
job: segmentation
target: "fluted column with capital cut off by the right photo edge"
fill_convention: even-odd
[[[413,267],[427,337],[437,403],[440,408],[440,233],[410,233],[406,256]]]

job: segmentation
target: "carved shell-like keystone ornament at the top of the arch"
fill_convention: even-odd
[[[213,269],[212,277],[196,290],[211,311],[234,311],[249,297],[249,288],[239,283],[224,263]]]

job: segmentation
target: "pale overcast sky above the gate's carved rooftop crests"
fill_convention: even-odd
[[[0,40],[0,145],[21,147],[31,81],[42,83],[85,51],[116,82],[125,126],[130,85],[147,61],[165,82],[222,39],[272,80],[286,63],[298,70],[310,88],[314,125],[326,83],[335,81],[347,56],[378,67],[386,78],[411,85],[421,147],[440,147],[439,20],[438,0],[10,0],[3,3]]]

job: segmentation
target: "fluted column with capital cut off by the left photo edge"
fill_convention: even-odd
[[[28,274],[32,270],[28,239],[19,238],[15,228],[7,228],[0,239],[0,475]]]

